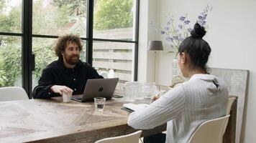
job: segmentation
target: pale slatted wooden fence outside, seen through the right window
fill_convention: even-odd
[[[95,38],[132,40],[132,28],[96,31]],[[119,82],[132,81],[134,44],[93,41],[93,66],[99,71],[114,70]]]

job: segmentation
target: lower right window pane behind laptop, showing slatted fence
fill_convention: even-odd
[[[119,77],[118,86],[132,81],[133,54],[134,44],[93,41],[93,67],[99,74],[105,73],[109,74],[109,77]],[[114,74],[111,74],[112,71]]]

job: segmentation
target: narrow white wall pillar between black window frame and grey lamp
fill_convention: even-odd
[[[157,40],[155,30],[150,27],[150,20],[157,16],[157,4],[157,1],[140,0],[140,55],[138,57],[138,81],[140,82],[155,82],[155,54],[147,51],[147,43],[150,40]],[[158,69],[157,66],[156,69]]]

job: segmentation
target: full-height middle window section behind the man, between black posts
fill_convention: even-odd
[[[35,71],[32,72],[32,89],[42,69],[58,59],[54,46],[59,35],[78,34],[86,37],[86,0],[34,0],[32,5],[32,53],[35,54]],[[81,60],[86,61],[86,41],[83,40]]]

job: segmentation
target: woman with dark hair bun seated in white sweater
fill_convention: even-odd
[[[145,137],[147,142],[188,142],[197,127],[210,119],[226,115],[228,89],[224,80],[207,73],[211,47],[202,39],[203,26],[195,24],[191,36],[178,49],[178,65],[188,81],[176,85],[150,106],[129,114],[135,129],[152,129],[167,122],[163,134]],[[157,139],[158,138],[158,139]]]

